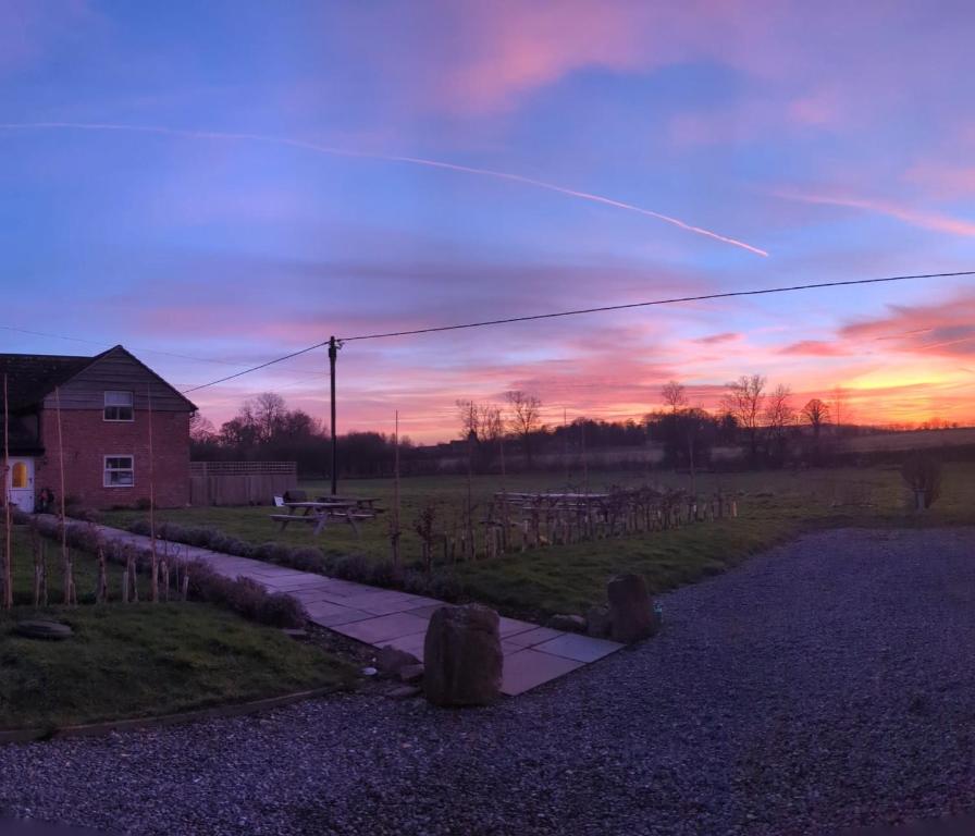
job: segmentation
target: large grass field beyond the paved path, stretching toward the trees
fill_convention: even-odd
[[[672,472],[593,474],[590,489],[612,484],[656,483],[688,489],[690,479]],[[498,477],[474,477],[473,502],[481,508],[499,489]],[[559,491],[564,477],[533,474],[508,477],[509,491]],[[579,488],[576,483],[575,489]],[[309,495],[328,493],[325,483],[307,483]],[[531,550],[493,560],[440,566],[456,575],[472,600],[520,614],[583,612],[604,598],[606,579],[618,571],[637,571],[655,591],[664,591],[726,570],[748,555],[820,527],[842,525],[918,526],[975,524],[975,464],[947,465],[942,497],[930,512],[917,515],[905,508],[904,488],[897,468],[817,469],[704,475],[698,492],[733,493],[738,519],[701,522],[681,529],[597,540],[573,545]],[[341,485],[342,493],[378,496],[392,502],[391,480],[356,480]],[[402,519],[407,533],[403,554],[407,564],[420,557],[420,540],[412,521],[430,502],[441,520],[459,516],[466,497],[462,477],[420,477],[402,483]],[[291,545],[316,545],[336,554],[361,554],[373,561],[388,560],[388,514],[362,526],[361,539],[345,526],[314,537],[310,527],[289,526],[283,533],[269,519],[269,507],[185,508],[161,512],[165,519],[211,526],[255,543],[277,540]],[[124,526],[141,512],[110,512],[109,525]]]

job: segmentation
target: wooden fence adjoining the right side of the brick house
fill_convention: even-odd
[[[190,462],[190,505],[270,505],[298,487],[296,462]]]

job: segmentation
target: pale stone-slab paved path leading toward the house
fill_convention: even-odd
[[[148,537],[108,526],[98,526],[98,529],[107,540],[149,548]],[[433,598],[368,587],[208,549],[189,545],[181,549],[189,560],[203,561],[221,575],[250,578],[269,590],[294,595],[305,606],[309,620],[320,627],[377,648],[392,644],[419,659],[423,657],[430,616],[444,606],[443,601]],[[501,619],[501,639],[502,691],[510,697],[557,679],[622,647],[505,617]]]

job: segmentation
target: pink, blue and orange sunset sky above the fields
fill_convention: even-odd
[[[972,270],[973,28],[966,2],[0,0],[0,351],[122,343],[186,389],[333,333]],[[326,362],[192,397],[324,416]],[[752,372],[975,422],[975,279],[351,342],[340,430],[445,439],[510,389],[635,418],[670,378],[714,407]]]

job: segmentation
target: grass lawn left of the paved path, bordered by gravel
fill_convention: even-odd
[[[57,550],[49,545],[49,600],[61,600]],[[32,604],[26,532],[15,528],[11,614],[0,614],[0,729],[52,728],[150,716],[310,688],[342,687],[349,669],[280,630],[208,604],[85,603],[96,567],[75,554],[78,606]],[[109,566],[118,601],[121,569]],[[17,637],[16,620],[44,617],[75,635],[50,642]]]

